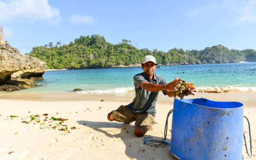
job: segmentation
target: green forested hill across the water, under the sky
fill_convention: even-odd
[[[26,55],[47,62],[47,69],[105,68],[140,64],[145,55],[153,55],[157,63],[163,65],[233,63],[238,61],[256,61],[254,49],[228,49],[222,45],[206,47],[204,50],[186,50],[173,48],[168,52],[153,49],[137,49],[131,41],[122,40],[119,44],[108,43],[103,36],[80,36],[68,45],[58,41],[44,46],[34,47]]]

